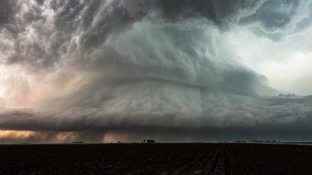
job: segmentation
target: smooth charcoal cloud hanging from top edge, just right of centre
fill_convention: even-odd
[[[161,0],[157,1],[157,4],[162,15],[168,20],[204,17],[221,29],[228,29],[230,24],[237,23],[242,16],[252,14],[263,2],[263,0]]]

